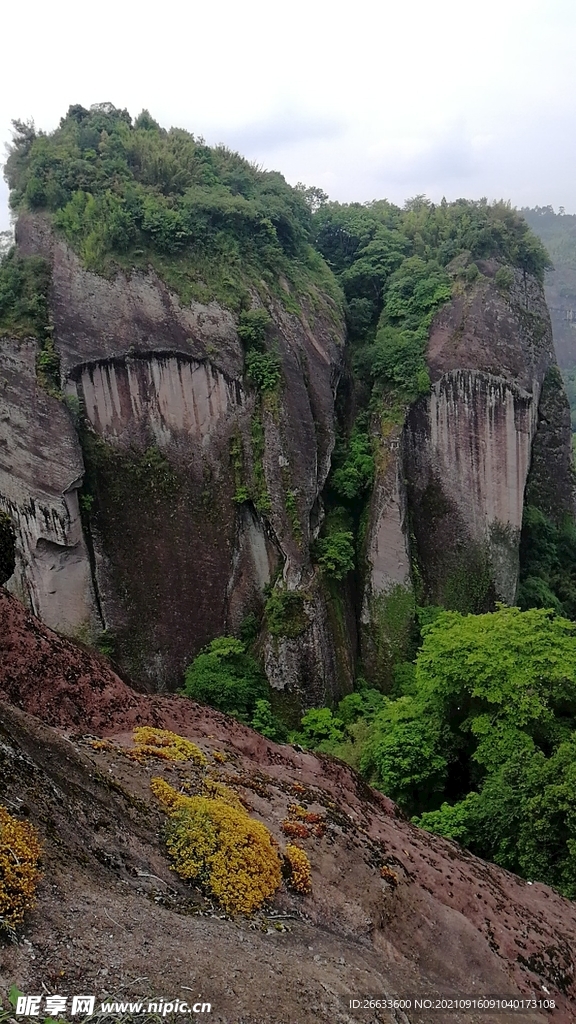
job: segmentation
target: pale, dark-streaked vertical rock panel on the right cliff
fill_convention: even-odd
[[[515,599],[539,384],[444,374],[406,426],[414,540],[438,603]]]

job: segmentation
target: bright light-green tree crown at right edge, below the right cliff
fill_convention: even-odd
[[[444,612],[424,630],[416,681],[467,756],[493,765],[507,731],[546,744],[576,723],[576,624],[540,608]]]

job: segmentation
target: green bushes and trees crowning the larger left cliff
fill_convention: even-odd
[[[282,280],[339,300],[305,198],[276,171],[110,103],[71,106],[50,134],[13,124],[12,209],[47,211],[89,269],[152,265],[184,301],[233,309],[248,285],[285,297]]]

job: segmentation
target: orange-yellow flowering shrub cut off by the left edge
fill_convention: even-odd
[[[34,825],[0,806],[0,927],[19,925],[36,902],[42,846]]]

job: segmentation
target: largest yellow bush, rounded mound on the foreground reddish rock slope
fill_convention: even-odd
[[[151,785],[169,813],[166,844],[180,878],[203,885],[231,912],[250,913],[276,892],[281,884],[277,845],[234,794],[232,801],[222,793],[184,797],[159,778]]]

